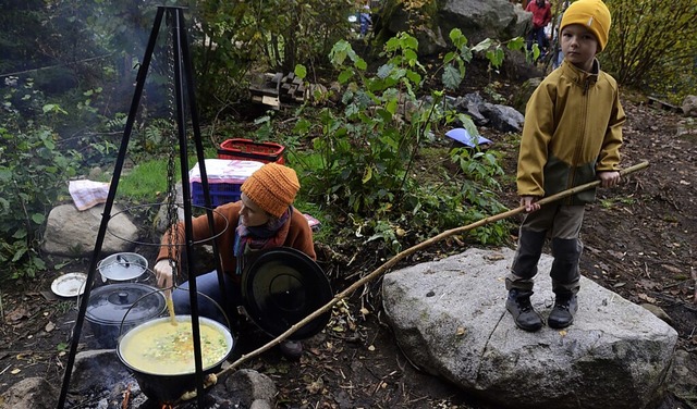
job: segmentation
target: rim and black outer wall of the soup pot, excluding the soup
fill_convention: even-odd
[[[129,362],[127,359],[124,358],[123,349],[124,346],[127,345],[129,342],[131,342],[134,337],[140,336],[143,331],[149,329],[152,325],[158,325],[162,321],[169,320],[169,317],[159,318],[133,327],[124,336],[121,337],[121,339],[119,340],[119,347],[117,348],[117,355],[119,356],[119,359],[133,372],[133,376],[138,382],[138,386],[140,386],[140,391],[143,391],[145,396],[147,396],[149,399],[155,400],[156,402],[163,405],[175,404],[181,400],[181,397],[184,393],[196,391],[196,372],[192,371],[189,373],[181,374],[147,372]],[[176,320],[180,323],[191,323],[192,318],[191,315],[176,315]],[[216,363],[203,369],[201,373],[205,379],[206,375],[220,371],[220,369],[222,368],[222,363],[232,352],[234,340],[230,331],[217,321],[205,317],[199,317],[199,325],[210,325],[221,334],[223,334],[228,347],[224,357],[222,357]]]

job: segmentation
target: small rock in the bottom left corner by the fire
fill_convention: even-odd
[[[42,377],[27,377],[0,395],[0,408],[52,409],[59,391]]]

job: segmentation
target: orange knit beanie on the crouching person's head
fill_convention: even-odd
[[[244,181],[241,190],[267,213],[280,218],[293,205],[299,188],[294,170],[267,163]]]

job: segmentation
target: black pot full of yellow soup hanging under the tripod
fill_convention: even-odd
[[[159,404],[175,404],[182,394],[196,389],[192,317],[175,319],[176,325],[170,317],[139,324],[121,337],[117,348],[119,359],[131,369],[143,393]],[[220,371],[234,340],[230,331],[217,321],[199,317],[198,323],[206,377]]]

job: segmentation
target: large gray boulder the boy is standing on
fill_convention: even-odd
[[[412,362],[500,408],[649,408],[662,395],[677,333],[583,277],[564,331],[517,329],[505,311],[514,251],[469,249],[383,278],[387,318]],[[543,255],[533,303],[553,303]]]

